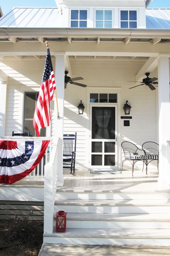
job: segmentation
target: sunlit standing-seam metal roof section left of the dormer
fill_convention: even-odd
[[[60,14],[58,8],[15,7],[8,14],[0,18],[0,27],[60,27],[61,15],[58,14]]]

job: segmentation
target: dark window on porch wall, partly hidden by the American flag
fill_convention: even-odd
[[[33,117],[36,109],[38,99],[37,93],[25,93],[24,96],[24,124],[23,124],[23,133],[30,132],[30,136],[37,136],[36,131],[33,127]],[[46,136],[46,128],[42,128],[40,136]]]

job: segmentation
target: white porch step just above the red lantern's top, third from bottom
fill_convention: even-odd
[[[131,200],[131,199],[65,199],[55,201],[55,211],[77,213],[169,213],[170,200]]]

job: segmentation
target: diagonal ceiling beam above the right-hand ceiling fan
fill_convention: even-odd
[[[157,67],[157,58],[150,57],[147,62],[143,65],[140,71],[136,75],[136,82],[139,82],[143,79],[146,72],[151,73]]]

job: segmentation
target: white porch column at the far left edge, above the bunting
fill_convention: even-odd
[[[7,82],[0,81],[0,136],[5,136]]]

